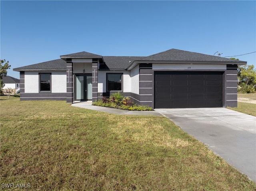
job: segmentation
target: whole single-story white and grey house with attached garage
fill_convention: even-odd
[[[170,49],[147,57],[79,52],[15,68],[20,100],[100,100],[120,91],[152,108],[237,106],[237,66],[245,61]]]

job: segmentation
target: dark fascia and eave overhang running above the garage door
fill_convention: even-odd
[[[132,64],[127,68],[127,70],[132,70],[140,63],[152,63],[152,64],[215,64],[215,65],[246,65],[245,61],[152,61],[152,60],[135,60]]]

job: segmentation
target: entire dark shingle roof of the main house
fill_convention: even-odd
[[[232,60],[228,58],[206,55],[201,53],[195,53],[190,51],[170,49],[157,54],[153,54],[147,57],[138,56],[101,56],[97,54],[92,54],[88,52],[78,52],[68,55],[60,56],[61,59],[42,62],[38,64],[28,65],[24,67],[19,67],[13,69],[14,71],[51,71],[51,70],[66,70],[66,58],[98,58],[100,63],[105,63],[100,65],[102,70],[125,70],[132,69],[138,65],[138,63],[188,63],[188,62],[206,62],[211,64],[230,64],[234,63],[237,65],[246,64],[244,61]]]

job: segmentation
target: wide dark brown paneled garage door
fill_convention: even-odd
[[[222,107],[222,72],[156,71],[155,108]]]

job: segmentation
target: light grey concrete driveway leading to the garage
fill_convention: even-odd
[[[256,117],[226,108],[155,110],[256,181]]]

